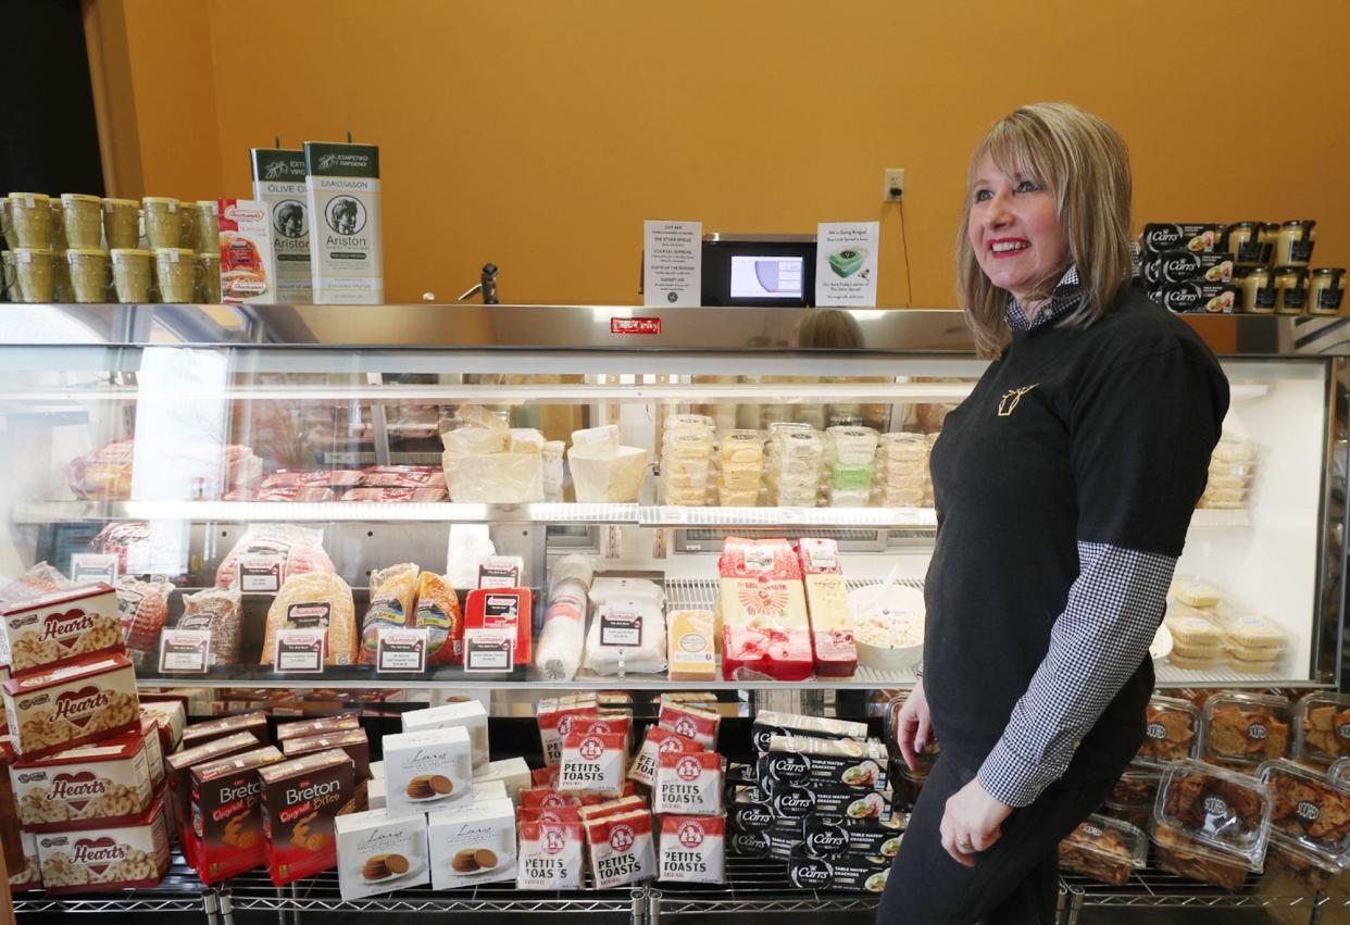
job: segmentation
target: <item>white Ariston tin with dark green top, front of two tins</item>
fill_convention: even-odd
[[[379,305],[385,261],[379,149],[305,142],[309,266],[316,305]]]

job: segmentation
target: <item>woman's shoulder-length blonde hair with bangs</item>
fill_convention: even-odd
[[[1060,323],[1087,327],[1111,311],[1133,273],[1130,261],[1130,151],[1106,120],[1068,103],[1026,105],[994,123],[971,157],[967,189],[988,154],[1007,174],[1044,184],[1054,193],[1068,261],[1079,270],[1083,301]],[[975,347],[998,356],[1007,346],[1008,293],[990,282],[971,246],[972,197],[967,193],[956,242],[956,294],[971,323]],[[1031,298],[1048,298],[1069,263],[1040,281]]]

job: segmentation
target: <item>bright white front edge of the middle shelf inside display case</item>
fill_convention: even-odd
[[[932,529],[932,508],[678,508],[637,504],[455,504],[414,501],[39,501],[16,504],[15,524],[105,520],[190,523],[614,524],[649,528]],[[1199,509],[1193,528],[1250,527],[1246,509]]]

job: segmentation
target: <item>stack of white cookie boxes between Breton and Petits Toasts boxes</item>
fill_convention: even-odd
[[[405,713],[404,731],[385,736],[383,755],[370,810],[338,820],[343,899],[516,876],[513,798],[529,768],[518,758],[489,762],[482,704]]]

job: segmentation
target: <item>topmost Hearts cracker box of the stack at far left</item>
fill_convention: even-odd
[[[0,662],[15,674],[123,648],[117,594],[101,582],[0,605]]]

